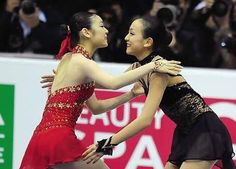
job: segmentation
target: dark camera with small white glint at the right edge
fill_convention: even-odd
[[[220,46],[227,49],[229,53],[236,56],[236,34],[223,38]]]

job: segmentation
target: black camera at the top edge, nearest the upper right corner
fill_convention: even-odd
[[[212,14],[218,17],[225,16],[231,3],[231,0],[216,0],[211,8]]]

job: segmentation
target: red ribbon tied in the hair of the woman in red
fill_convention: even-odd
[[[58,54],[56,55],[56,59],[61,59],[65,53],[71,52],[71,51],[72,51],[71,32],[70,32],[70,30],[68,30],[68,34],[67,34],[66,38],[61,42],[61,47],[60,47]]]

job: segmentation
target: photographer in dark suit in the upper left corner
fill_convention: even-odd
[[[0,51],[55,54],[60,45],[58,23],[30,0],[6,0],[0,12]]]

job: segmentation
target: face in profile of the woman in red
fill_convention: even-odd
[[[104,23],[101,17],[94,15],[91,18],[91,32],[93,37],[91,38],[92,43],[96,48],[104,48],[108,46],[107,34],[108,30],[104,27]]]

